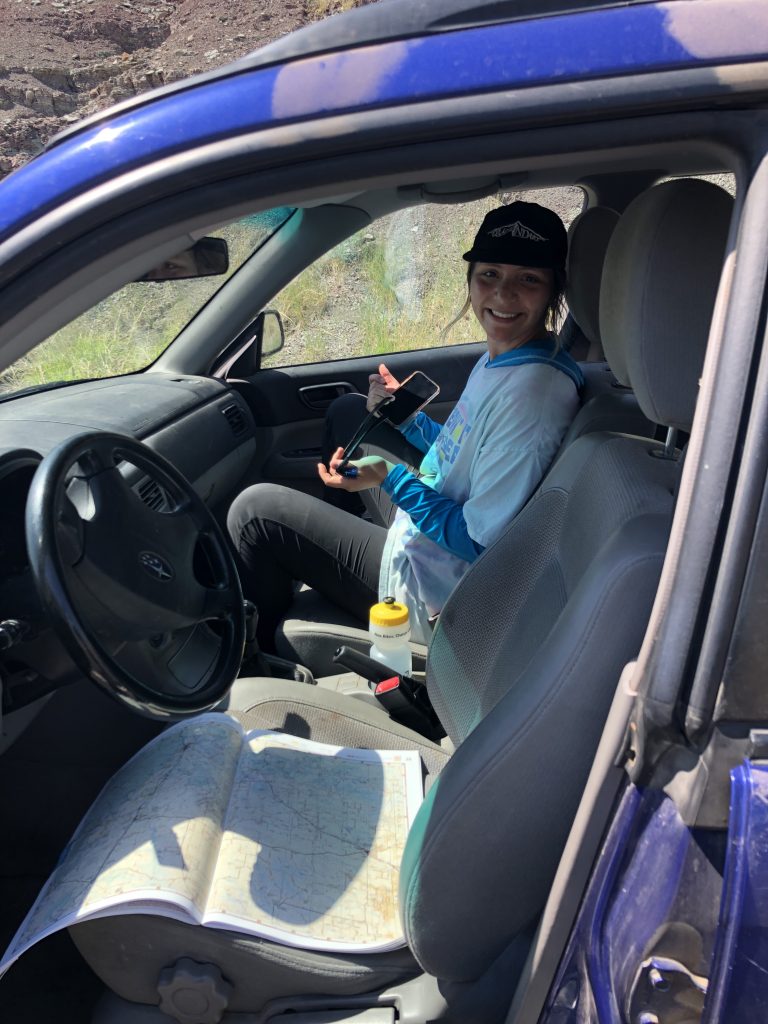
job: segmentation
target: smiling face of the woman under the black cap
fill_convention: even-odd
[[[492,358],[541,337],[554,274],[543,267],[476,263],[469,300],[485,331]]]

